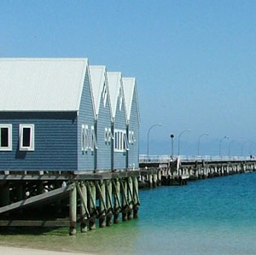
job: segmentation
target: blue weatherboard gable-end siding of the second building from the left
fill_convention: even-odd
[[[97,163],[96,169],[111,170],[111,141],[105,142],[105,128],[111,129],[111,115],[110,105],[107,98],[106,106],[103,106],[103,100],[101,96],[101,104],[97,119]]]

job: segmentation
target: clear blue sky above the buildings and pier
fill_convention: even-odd
[[[135,76],[142,116],[141,153],[228,154],[244,142],[256,154],[255,1],[0,2],[1,57],[81,57]],[[245,143],[247,140],[252,141]],[[234,142],[231,154],[241,154]]]

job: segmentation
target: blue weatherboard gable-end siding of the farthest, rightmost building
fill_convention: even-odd
[[[129,143],[128,168],[139,167],[139,119],[137,113],[137,94],[133,93],[131,102],[131,115],[128,130],[134,132],[135,142]]]

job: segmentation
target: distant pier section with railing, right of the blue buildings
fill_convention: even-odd
[[[140,155],[139,162],[142,172],[158,169],[162,185],[183,185],[192,180],[256,171],[253,157],[175,156],[172,159],[169,155]]]

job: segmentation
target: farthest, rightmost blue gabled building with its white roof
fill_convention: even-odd
[[[127,134],[129,142],[128,151],[128,168],[139,168],[139,125],[140,114],[137,99],[137,84],[135,78],[122,78],[125,106],[126,106],[126,119],[127,119]]]

